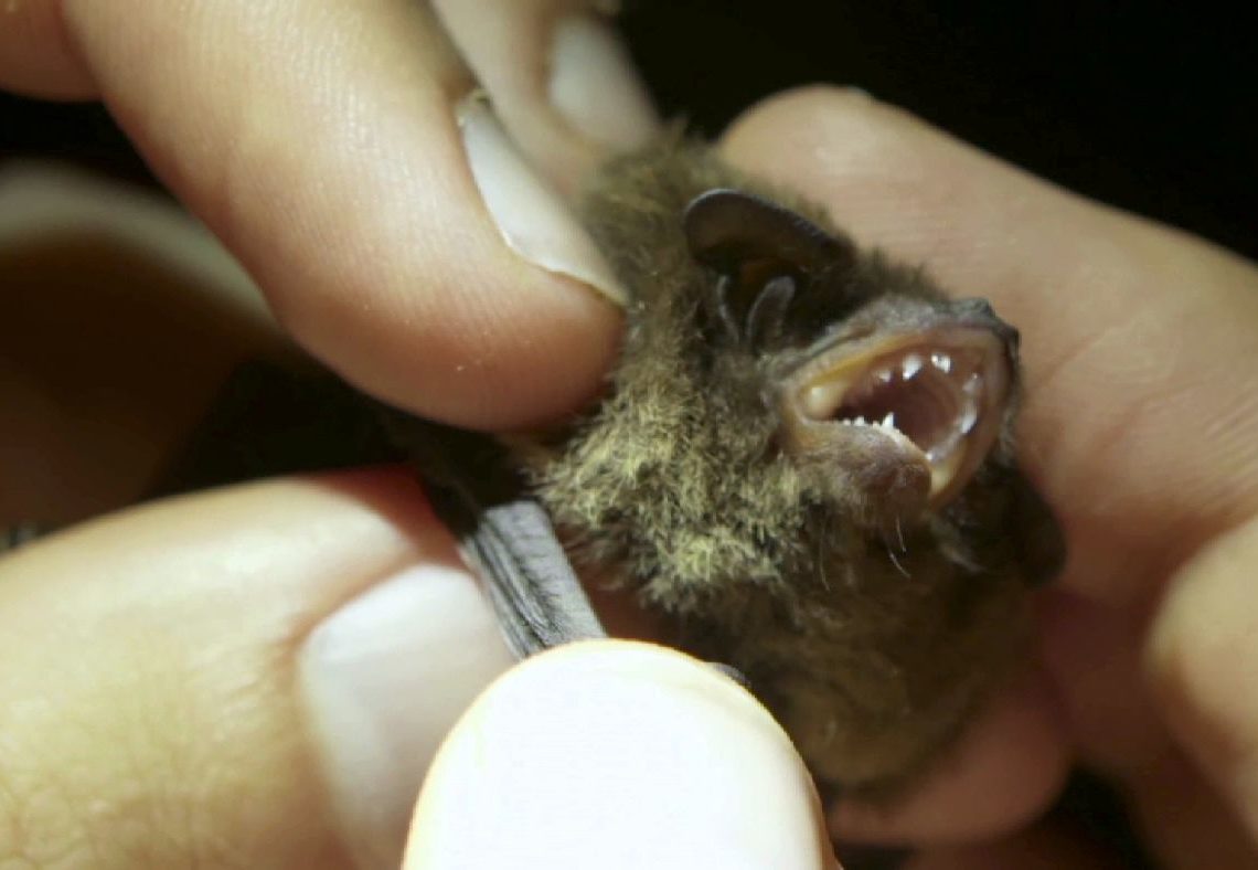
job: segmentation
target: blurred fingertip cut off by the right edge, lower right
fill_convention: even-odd
[[[1245,855],[1249,862],[1258,861],[1255,573],[1258,520],[1252,520],[1215,541],[1176,575],[1154,622],[1146,657],[1159,709],[1180,745],[1229,805],[1230,812],[1195,813],[1196,827],[1213,831],[1211,844],[1232,840],[1233,857]],[[1166,788],[1159,792],[1161,808],[1169,810],[1165,805],[1174,801],[1176,792],[1167,793]],[[1237,837],[1223,836],[1232,813],[1249,833],[1249,842],[1242,844],[1239,851]],[[1179,827],[1185,815],[1177,813],[1176,818],[1176,813],[1164,812],[1162,817],[1175,820]],[[1176,851],[1184,855],[1184,850]]]

